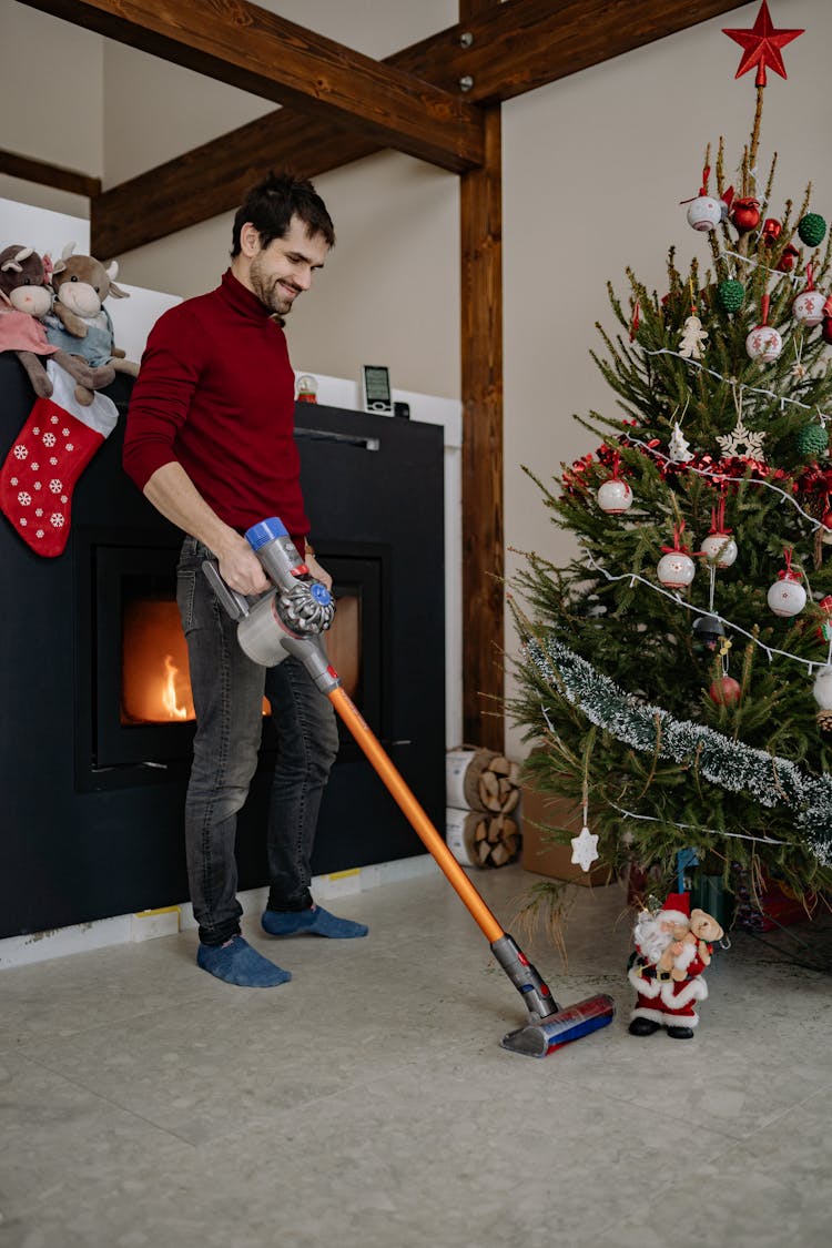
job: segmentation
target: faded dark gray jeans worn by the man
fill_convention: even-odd
[[[237,811],[257,768],[263,693],[278,736],[267,826],[269,909],[302,910],[312,904],[312,847],[338,730],[332,704],[302,663],[287,658],[276,668],[261,668],[243,654],[237,625],[202,572],[208,558],[205,545],[185,539],[177,602],[197,720],[185,845],[200,940],[221,945],[239,931]]]

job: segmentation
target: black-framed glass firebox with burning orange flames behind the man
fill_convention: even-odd
[[[84,530],[77,535],[76,670],[86,695],[77,736],[79,787],[155,784],[190,765],[196,716],[188,655],[176,603],[178,544],[151,545],[142,534]],[[336,549],[337,548],[337,549]],[[373,731],[385,738],[383,584],[389,549],[367,543],[319,545],[337,600],[327,654]],[[389,575],[389,572],[387,573]],[[389,644],[389,643],[388,643]],[[263,699],[263,714],[268,715]],[[339,759],[358,748],[339,724]],[[267,720],[263,753],[276,738]]]

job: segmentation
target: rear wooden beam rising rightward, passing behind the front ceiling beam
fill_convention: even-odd
[[[578,0],[505,0],[383,64],[448,91],[470,76],[468,99],[474,104],[494,92],[510,99],[741,5],[600,0],[589,7],[586,17],[588,6]],[[462,44],[464,34],[473,36],[469,47]],[[354,130],[282,109],[105,191],[91,206],[92,247],[100,256],[122,255],[228,212],[268,168],[316,177],[383,147]]]

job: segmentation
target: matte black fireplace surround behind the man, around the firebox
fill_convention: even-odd
[[[192,723],[120,714],[130,585],[172,597],[181,534],[121,468],[130,379],[107,393],[119,426],[76,484],[65,552],[44,559],[0,517],[0,937],[187,899],[182,810]],[[0,354],[0,456],[34,396]],[[356,701],[429,817],[444,821],[443,436],[437,426],[313,404],[296,413],[318,558],[360,600]],[[0,459],[1,462],[1,459]],[[239,887],[266,884],[263,826],[276,743],[237,834]],[[316,875],[423,852],[342,731],[324,794]]]

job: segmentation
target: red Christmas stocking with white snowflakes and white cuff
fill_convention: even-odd
[[[112,399],[96,394],[90,407],[81,407],[69,373],[51,362],[49,373],[56,383],[52,398],[35,401],[0,469],[0,509],[47,559],[64,550],[75,483],[119,421]]]

